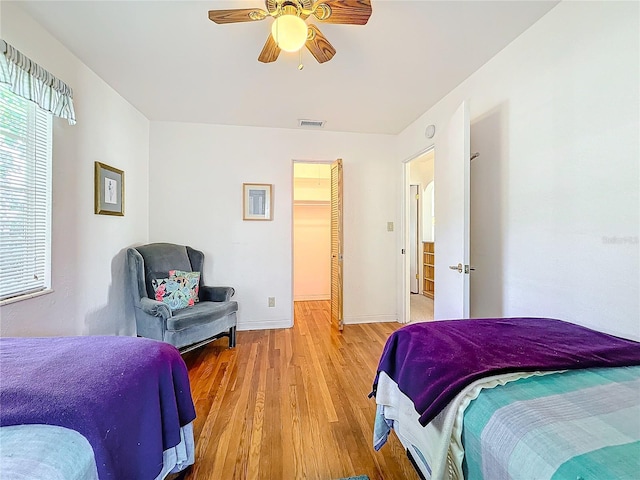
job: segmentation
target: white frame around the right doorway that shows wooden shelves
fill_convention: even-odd
[[[421,157],[429,153],[430,151],[435,150],[435,143],[430,144],[428,147],[423,148],[419,152],[411,155],[410,157],[404,159],[402,161],[402,204],[400,208],[400,218],[402,220],[402,239],[401,245],[402,250],[404,251],[404,255],[402,256],[402,268],[401,268],[401,277],[402,280],[400,282],[400,318],[399,323],[409,323],[411,321],[410,312],[411,312],[411,285],[409,278],[411,275],[411,266],[409,259],[409,248],[411,235],[409,234],[409,223],[410,223],[410,214],[409,214],[409,202],[411,201],[411,174],[410,174],[410,163],[413,160]],[[435,164],[434,158],[434,164]]]

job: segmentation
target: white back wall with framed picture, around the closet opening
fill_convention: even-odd
[[[293,160],[343,159],[345,322],[397,319],[396,137],[151,122],[150,138],[150,240],[203,250],[205,281],[236,289],[239,329],[292,325]],[[273,221],[242,220],[243,182],[274,185]]]

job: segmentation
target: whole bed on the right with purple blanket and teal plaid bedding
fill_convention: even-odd
[[[555,319],[414,324],[373,382],[425,479],[629,479],[640,472],[640,343]]]

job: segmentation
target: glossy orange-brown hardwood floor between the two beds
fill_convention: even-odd
[[[331,326],[329,302],[296,302],[291,329],[238,332],[184,355],[196,405],[185,480],[418,480],[395,435],[372,447],[378,359],[397,323]]]

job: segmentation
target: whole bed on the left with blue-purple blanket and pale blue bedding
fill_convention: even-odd
[[[194,418],[167,343],[0,338],[0,478],[162,479],[193,464]]]

